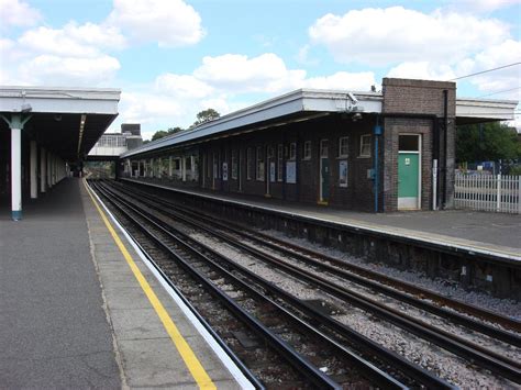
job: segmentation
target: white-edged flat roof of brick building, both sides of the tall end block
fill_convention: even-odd
[[[120,157],[132,157],[157,149],[225,137],[232,132],[253,132],[331,113],[378,114],[383,112],[383,102],[381,92],[299,89],[223,115],[192,130],[151,142],[123,153]],[[508,100],[457,99],[456,121],[457,124],[465,124],[511,120],[517,104],[517,101]]]

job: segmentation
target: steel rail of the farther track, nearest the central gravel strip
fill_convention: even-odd
[[[186,218],[181,219],[186,220]],[[195,221],[188,223],[198,225],[198,223]],[[502,355],[483,348],[479,345],[468,342],[462,337],[455,336],[448,332],[439,330],[422,321],[408,316],[395,309],[387,308],[386,305],[379,302],[363,297],[362,294],[358,294],[354,291],[350,291],[345,288],[342,288],[341,286],[334,285],[330,280],[321,278],[312,272],[304,271],[296,266],[286,264],[285,261],[279,260],[274,256],[269,256],[258,249],[252,248],[248,245],[240,243],[236,241],[236,238],[230,237],[224,233],[214,232],[206,226],[201,226],[200,224],[199,229],[207,231],[207,233],[215,235],[221,239],[226,241],[229,244],[240,247],[241,249],[248,252],[254,256],[263,258],[266,261],[285,269],[287,272],[297,276],[298,278],[302,278],[309,282],[313,282],[315,286],[319,286],[320,288],[336,296],[337,298],[347,300],[352,304],[355,304],[363,310],[370,311],[375,315],[378,315],[379,317],[389,321],[395,325],[406,328],[422,338],[429,339],[440,345],[441,347],[451,350],[456,355],[464,356],[469,360],[479,363],[483,367],[490,369],[514,382],[521,383],[521,371],[519,368],[520,365],[514,360],[511,360],[507,357],[503,357]]]

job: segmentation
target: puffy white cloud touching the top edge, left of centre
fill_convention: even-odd
[[[114,0],[107,23],[159,46],[192,45],[204,36],[201,16],[182,0]]]

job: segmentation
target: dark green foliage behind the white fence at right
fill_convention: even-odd
[[[457,126],[458,163],[517,158],[521,158],[521,143],[516,129],[499,122]]]

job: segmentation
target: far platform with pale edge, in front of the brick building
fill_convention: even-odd
[[[155,179],[123,180],[235,202],[301,219],[490,254],[521,264],[520,215],[469,210],[368,213],[239,193],[186,189]]]

